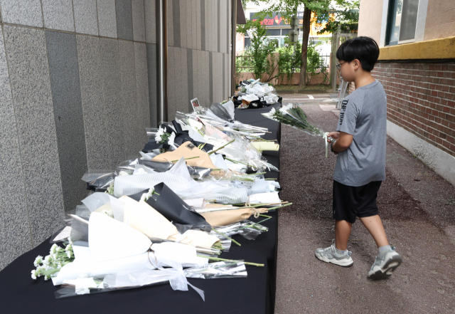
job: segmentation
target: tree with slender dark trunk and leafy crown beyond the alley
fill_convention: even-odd
[[[320,14],[327,19],[328,13],[334,10],[334,5],[351,6],[353,1],[348,0],[248,0],[244,1],[259,4],[269,4],[269,8],[262,10],[262,14],[273,14],[273,12],[281,12],[286,19],[291,19],[295,16],[297,8],[304,6],[304,23],[303,23],[303,41],[301,46],[301,65],[300,65],[300,80],[299,87],[304,88],[306,85],[306,66],[307,66],[307,51],[308,40],[311,26],[311,12],[315,16]],[[354,1],[356,2],[356,1]],[[322,18],[321,18],[322,19]],[[338,27],[338,26],[337,26]]]

